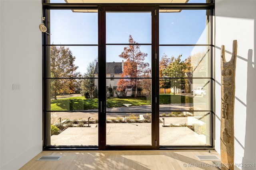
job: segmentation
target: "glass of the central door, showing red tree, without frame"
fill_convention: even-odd
[[[106,12],[106,145],[152,145],[151,12]]]

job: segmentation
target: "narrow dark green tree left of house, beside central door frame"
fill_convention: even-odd
[[[95,96],[95,84],[94,84],[94,70],[95,70],[95,65],[97,63],[97,60],[94,59],[94,61],[90,62],[87,66],[86,69],[86,73],[84,74],[84,80],[82,81],[82,85],[81,85],[81,94],[82,96],[85,96],[86,93],[89,94],[90,98],[97,98],[97,96]],[[88,96],[88,94],[86,96]]]

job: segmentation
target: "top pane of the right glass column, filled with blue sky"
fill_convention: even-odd
[[[159,13],[160,44],[206,44],[206,10]]]

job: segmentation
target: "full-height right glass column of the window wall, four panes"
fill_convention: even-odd
[[[207,10],[159,14],[159,145],[211,145]]]

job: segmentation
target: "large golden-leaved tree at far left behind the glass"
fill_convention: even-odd
[[[75,56],[72,55],[68,47],[51,46],[51,77],[52,78],[72,78],[78,76],[76,72],[78,66],[75,66]],[[54,99],[57,100],[57,95],[60,93],[74,93],[76,91],[74,79],[52,79],[51,92]]]

